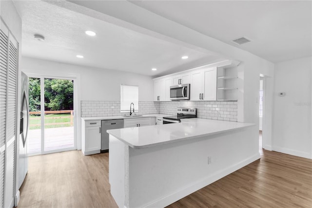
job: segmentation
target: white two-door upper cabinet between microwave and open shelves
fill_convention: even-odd
[[[216,67],[191,72],[191,100],[216,100]]]

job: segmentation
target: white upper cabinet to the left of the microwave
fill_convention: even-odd
[[[171,76],[154,80],[154,101],[170,101],[171,83]]]

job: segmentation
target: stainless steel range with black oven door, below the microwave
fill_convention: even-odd
[[[180,123],[181,119],[185,118],[196,118],[196,108],[176,108],[176,115],[163,117],[162,123]]]

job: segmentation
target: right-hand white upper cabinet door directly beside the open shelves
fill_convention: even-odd
[[[204,100],[216,100],[216,67],[204,70]]]

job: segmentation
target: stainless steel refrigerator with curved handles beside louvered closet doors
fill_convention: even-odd
[[[27,134],[29,125],[28,76],[21,73],[19,189],[28,171]]]

